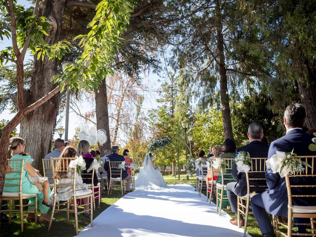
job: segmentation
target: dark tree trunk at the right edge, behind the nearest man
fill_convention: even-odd
[[[308,128],[316,128],[316,70],[310,67],[307,60],[305,65],[308,69],[308,79],[298,79],[297,83],[306,110],[306,125]]]

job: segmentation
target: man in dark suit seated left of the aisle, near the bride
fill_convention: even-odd
[[[123,156],[118,155],[118,151],[119,151],[118,146],[112,146],[112,154],[105,159],[104,169],[108,173],[108,180],[110,180],[109,161],[124,161],[125,160]],[[112,175],[112,177],[117,178],[114,175]],[[129,193],[130,192],[130,185],[132,182],[132,177],[129,174],[127,174],[127,168],[125,168],[125,170],[122,171],[122,179],[126,180],[126,193]]]

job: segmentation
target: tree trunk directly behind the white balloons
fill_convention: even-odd
[[[104,129],[107,132],[106,135],[108,137],[107,142],[103,144],[103,146],[99,145],[99,151],[101,153],[101,156],[103,156],[105,150],[111,151],[107,85],[105,79],[99,86],[98,91],[96,91],[95,93],[95,114],[97,118],[97,129]]]

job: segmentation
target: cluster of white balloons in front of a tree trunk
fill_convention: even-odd
[[[97,142],[102,146],[107,142],[107,132],[104,129],[97,130],[96,127],[90,127],[83,125],[78,134],[78,138],[81,140],[86,140],[90,146],[96,144]]]

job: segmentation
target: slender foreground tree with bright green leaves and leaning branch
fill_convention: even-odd
[[[31,49],[34,54],[37,54],[37,59],[42,61],[47,60],[46,57],[53,60],[56,57],[61,58],[69,49],[70,43],[58,42],[49,45],[44,41],[44,36],[49,36],[49,29],[54,27],[54,24],[50,25],[46,17],[40,16],[39,0],[35,2],[34,7],[29,9],[17,5],[13,0],[0,1],[1,16],[5,19],[4,26],[1,28],[7,28],[7,26],[10,28],[10,31],[1,31],[0,36],[5,35],[11,37],[12,40],[12,47],[0,51],[0,67],[4,60],[11,61],[16,64],[17,72],[17,113],[1,130],[0,162],[2,164],[6,162],[10,134],[25,116],[66,86],[93,90],[102,83],[104,76],[113,71],[114,54],[121,40],[119,34],[125,31],[132,9],[133,4],[129,1],[101,1],[96,8],[96,16],[88,25],[91,28],[89,34],[77,37],[80,39],[83,53],[76,65],[67,67],[64,75],[54,75],[51,79],[55,83],[58,82],[59,86],[28,105],[24,96],[23,64],[26,51]],[[0,199],[4,174],[5,165],[2,165],[0,166]]]

